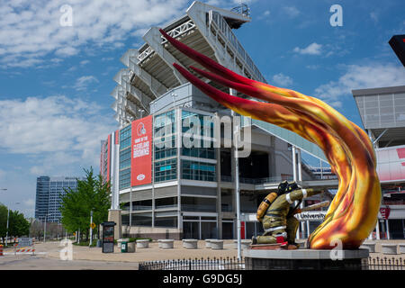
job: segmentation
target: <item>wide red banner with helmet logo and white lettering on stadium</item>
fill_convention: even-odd
[[[132,121],[130,185],[152,182],[152,116]]]

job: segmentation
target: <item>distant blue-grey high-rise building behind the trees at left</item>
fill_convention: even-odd
[[[49,222],[59,222],[59,211],[62,195],[65,189],[76,189],[77,177],[49,177],[42,175],[37,178],[37,193],[35,200],[35,218]]]

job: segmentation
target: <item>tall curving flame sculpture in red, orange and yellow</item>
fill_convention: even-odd
[[[375,227],[381,200],[374,148],[365,131],[317,98],[240,76],[160,32],[176,49],[211,71],[190,67],[195,73],[266,103],[223,93],[173,64],[203,93],[241,115],[292,130],[323,150],[338,175],[338,193],[324,221],[311,233],[310,247],[330,249],[339,240],[342,248],[359,247]]]

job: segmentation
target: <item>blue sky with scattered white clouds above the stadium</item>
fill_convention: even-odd
[[[351,89],[405,85],[388,44],[405,33],[403,1],[245,2],[252,22],[235,33],[270,84],[320,97],[360,126]],[[100,140],[117,127],[110,93],[121,55],[191,3],[0,0],[0,202],[31,216],[37,176],[98,171]],[[332,4],[343,26],[330,25]]]

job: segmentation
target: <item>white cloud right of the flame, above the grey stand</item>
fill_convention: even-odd
[[[353,89],[404,85],[405,69],[400,66],[374,63],[349,65],[338,81],[330,81],[315,89],[315,95],[335,107],[342,106],[342,98],[352,95]]]

